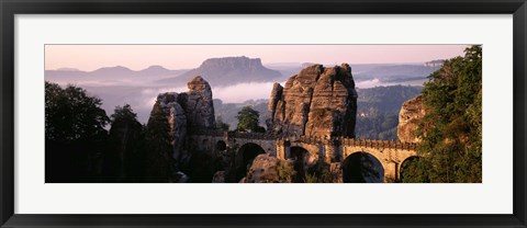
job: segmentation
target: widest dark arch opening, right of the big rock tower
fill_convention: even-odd
[[[384,167],[373,155],[356,151],[343,162],[344,183],[383,183]]]

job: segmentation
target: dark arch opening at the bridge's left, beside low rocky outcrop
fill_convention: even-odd
[[[258,155],[266,153],[261,146],[255,142],[244,144],[236,153],[236,181],[242,180],[247,173],[248,168],[253,164],[253,160]]]

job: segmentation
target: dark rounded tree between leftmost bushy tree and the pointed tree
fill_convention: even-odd
[[[111,115],[104,170],[111,182],[141,182],[145,168],[143,125],[130,104],[116,106]]]

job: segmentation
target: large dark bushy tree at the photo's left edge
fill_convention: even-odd
[[[97,182],[109,117],[99,98],[45,82],[46,182]]]

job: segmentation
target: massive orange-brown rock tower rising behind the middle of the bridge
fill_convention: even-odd
[[[285,136],[355,137],[357,92],[347,64],[313,65],[273,86],[268,129]]]

